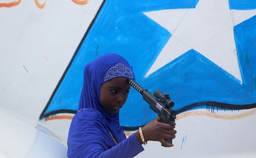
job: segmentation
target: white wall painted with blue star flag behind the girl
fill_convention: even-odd
[[[2,0],[0,106],[66,137],[84,66],[117,53],[177,112],[175,147],[137,157],[253,157],[255,15],[254,0]],[[156,114],[133,89],[120,116],[128,134]]]

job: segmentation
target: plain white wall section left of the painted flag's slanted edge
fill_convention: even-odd
[[[101,3],[46,1],[40,9],[23,0],[0,7],[1,107],[39,120]],[[66,137],[67,129],[56,130]]]

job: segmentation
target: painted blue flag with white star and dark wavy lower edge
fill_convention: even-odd
[[[175,102],[178,118],[237,119],[256,112],[256,2],[248,0],[105,0],[40,119],[76,113],[83,68],[104,53],[133,66],[136,81]],[[205,109],[205,111],[193,111]],[[244,109],[249,109],[242,113]],[[219,111],[241,111],[231,115]],[[134,130],[156,117],[131,90],[121,125]]]

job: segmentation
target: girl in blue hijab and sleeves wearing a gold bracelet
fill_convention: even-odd
[[[172,147],[175,126],[157,117],[126,138],[119,124],[119,109],[127,100],[135,79],[125,58],[105,54],[85,66],[84,83],[77,114],[73,117],[67,138],[69,158],[133,158],[147,141],[159,141]]]

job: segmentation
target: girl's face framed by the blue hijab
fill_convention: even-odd
[[[131,85],[127,83],[126,77],[117,77],[100,87],[100,103],[110,114],[115,114],[127,100]]]

